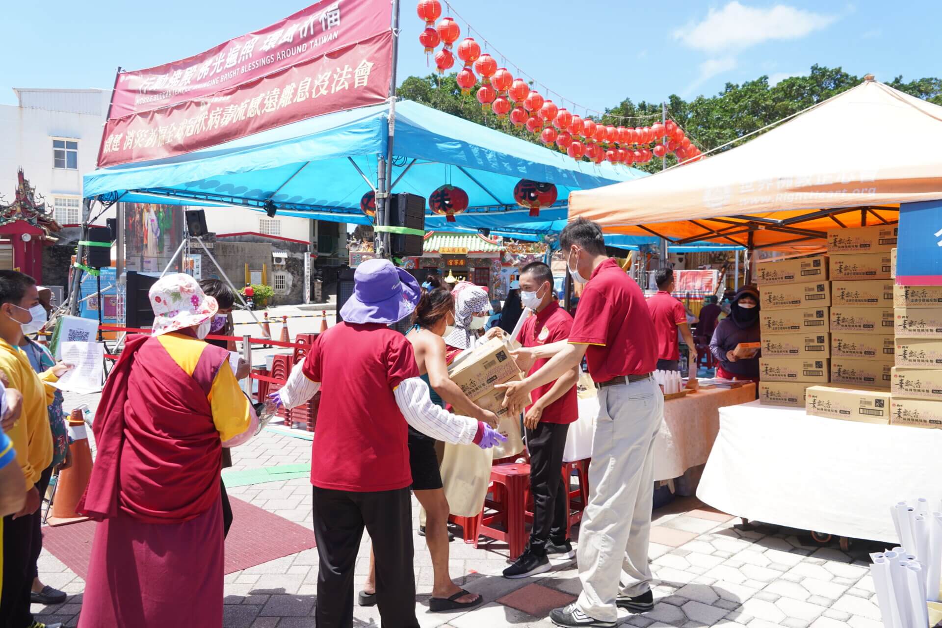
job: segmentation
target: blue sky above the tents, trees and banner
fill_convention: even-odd
[[[110,88],[119,65],[136,70],[196,54],[305,3],[6,4],[0,104],[15,104],[13,87]],[[774,81],[806,73],[813,63],[855,74],[873,72],[878,80],[942,74],[942,56],[935,48],[942,21],[937,0],[454,0],[453,6],[507,56],[512,72],[519,67],[565,99],[595,109],[625,97],[658,102],[672,93],[685,98],[713,94],[727,82],[761,74]],[[403,0],[401,16],[400,81],[430,72],[417,40],[424,24],[414,0]],[[459,24],[464,36],[466,24]],[[483,43],[481,35],[473,36]],[[494,49],[488,52],[501,62]]]

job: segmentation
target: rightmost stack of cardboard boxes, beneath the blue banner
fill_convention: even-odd
[[[942,286],[894,285],[893,305],[890,423],[942,428]]]

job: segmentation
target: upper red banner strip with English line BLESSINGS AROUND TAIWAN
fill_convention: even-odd
[[[121,72],[109,118],[123,118],[210,96],[300,65],[390,29],[389,0],[321,0],[276,24],[200,55]]]

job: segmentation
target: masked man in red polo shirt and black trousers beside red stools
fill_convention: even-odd
[[[553,293],[553,271],[543,262],[524,266],[520,273],[520,298],[532,310],[517,334],[523,346],[543,346],[565,340],[573,327],[573,317],[560,308]],[[546,360],[537,360],[529,367],[534,373]],[[521,364],[526,369],[526,364]],[[578,365],[559,379],[533,390],[532,404],[524,417],[527,448],[530,456],[530,490],[533,492],[533,528],[527,551],[507,569],[504,577],[525,578],[551,569],[548,556],[575,556],[572,543],[566,539],[566,491],[560,470],[562,451],[566,447],[569,424],[576,421],[579,409],[576,382]]]

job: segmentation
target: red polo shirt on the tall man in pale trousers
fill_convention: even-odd
[[[570,343],[589,345],[589,374],[608,381],[652,372],[658,348],[642,289],[612,259],[596,266],[590,279],[569,334]]]

